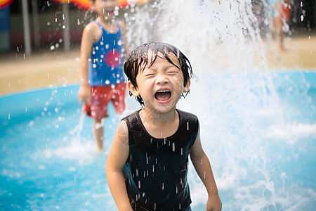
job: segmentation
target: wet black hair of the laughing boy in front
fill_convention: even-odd
[[[152,51],[154,55],[151,60],[148,60],[149,50]],[[131,84],[133,84],[134,87],[138,87],[136,83],[136,76],[138,75],[138,71],[143,71],[146,66],[150,68],[156,60],[158,52],[162,53],[164,55],[164,58],[166,58],[166,60],[173,65],[175,64],[169,58],[169,53],[171,52],[176,55],[179,60],[180,67],[178,67],[177,65],[175,66],[180,68],[183,72],[183,86],[185,87],[185,85],[187,84],[187,80],[192,77],[192,67],[190,61],[175,46],[158,41],[150,41],[146,44],[142,44],[138,46],[135,50],[131,51],[131,53],[129,53],[129,56],[127,56],[124,62],[124,72],[127,76],[127,79],[131,82]],[[131,91],[129,92],[129,94],[130,96],[132,95]],[[140,103],[140,105],[144,105],[144,101],[141,96],[137,96],[136,100]]]

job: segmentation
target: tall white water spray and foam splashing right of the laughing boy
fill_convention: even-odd
[[[126,16],[131,46],[165,41],[192,63],[191,94],[178,108],[199,117],[202,144],[224,210],[295,210],[301,201],[310,200],[291,193],[294,187],[285,186],[289,175],[272,167],[275,126],[301,129],[296,122],[284,120],[287,113],[279,105],[274,76],[268,72],[251,0],[162,0],[133,10]],[[315,138],[314,127],[308,124],[303,130]],[[207,194],[192,166],[189,181],[193,206],[199,207]],[[315,194],[310,190],[305,196]]]

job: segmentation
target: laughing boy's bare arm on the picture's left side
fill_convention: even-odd
[[[123,167],[129,158],[129,132],[126,122],[121,121],[114,134],[112,146],[107,156],[105,174],[112,196],[119,210],[131,210],[126,184],[123,176]]]

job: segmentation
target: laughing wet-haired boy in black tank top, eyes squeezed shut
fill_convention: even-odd
[[[119,210],[190,210],[188,155],[209,194],[221,202],[195,115],[176,109],[190,88],[189,60],[170,44],[138,46],[124,63],[130,94],[144,106],[124,117],[114,134],[106,175]]]

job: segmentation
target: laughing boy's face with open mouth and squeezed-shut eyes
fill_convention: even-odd
[[[154,58],[152,51],[148,51],[148,63]],[[169,53],[169,63],[164,55],[158,52],[158,56],[151,67],[148,65],[144,70],[139,70],[136,76],[138,87],[133,87],[128,83],[129,90],[133,96],[141,96],[145,103],[145,108],[165,113],[176,106],[183,92],[187,92],[190,87],[190,79],[183,87],[183,72],[180,70],[180,63],[176,55]]]

